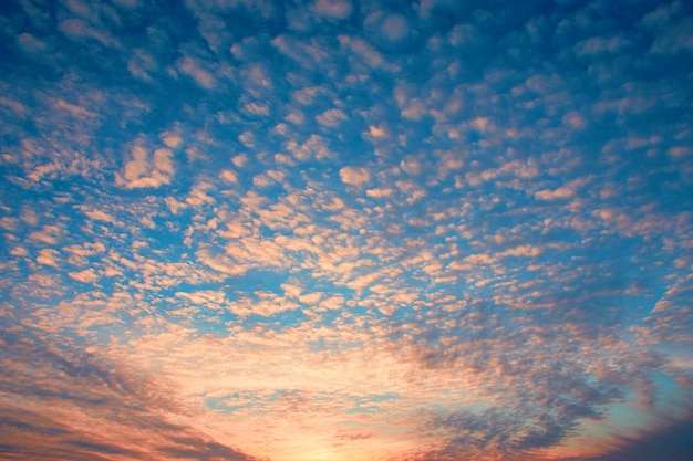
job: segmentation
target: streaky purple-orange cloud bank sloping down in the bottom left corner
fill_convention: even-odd
[[[127,373],[93,352],[50,346],[28,331],[20,343],[17,333],[14,328],[9,342],[0,344],[11,358],[0,379],[0,443],[7,455],[105,460],[185,452],[189,459],[252,460],[190,427],[168,422],[175,415],[180,420],[185,410],[168,395],[158,396],[151,377]]]

